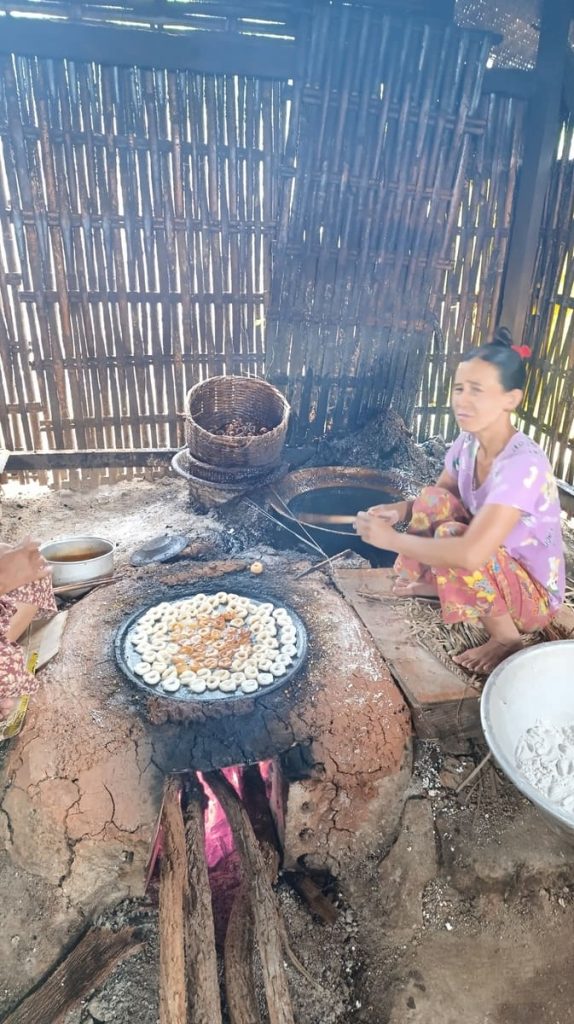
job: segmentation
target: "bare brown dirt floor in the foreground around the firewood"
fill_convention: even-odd
[[[455,797],[472,763],[418,749],[397,840],[336,896],[334,927],[279,885],[292,946],[317,982],[288,964],[300,1024],[574,1021],[574,849],[492,768]],[[65,1024],[157,1024],[153,909],[122,910],[146,920],[147,943]]]

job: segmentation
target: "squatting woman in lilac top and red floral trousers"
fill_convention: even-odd
[[[523,355],[505,328],[467,352],[452,389],[461,433],[434,487],[360,512],[359,536],[399,555],[394,592],[438,596],[446,623],[479,621],[489,639],[454,662],[488,673],[542,629],[565,588],[558,488],[546,456],[516,430]],[[393,529],[409,520],[407,532]]]

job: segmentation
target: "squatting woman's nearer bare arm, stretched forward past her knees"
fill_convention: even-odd
[[[492,558],[521,516],[520,509],[509,505],[485,505],[461,537],[427,538],[397,534],[385,520],[359,512],[356,528],[359,537],[376,548],[396,551],[433,568],[474,572]]]

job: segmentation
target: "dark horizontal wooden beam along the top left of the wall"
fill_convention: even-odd
[[[36,22],[8,15],[0,18],[0,53],[289,79],[297,72],[298,47],[290,40],[255,39],[223,32],[172,35],[146,29]]]

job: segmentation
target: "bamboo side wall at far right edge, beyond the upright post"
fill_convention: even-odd
[[[525,429],[574,483],[574,117],[562,125],[546,199],[525,341],[533,358]]]

